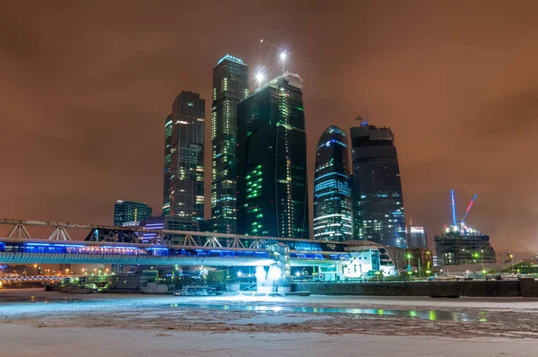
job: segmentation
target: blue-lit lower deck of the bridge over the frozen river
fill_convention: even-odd
[[[351,259],[342,247],[330,253],[319,242],[291,242],[291,266],[334,266]],[[271,247],[273,245],[270,244]],[[298,249],[299,248],[299,249]],[[48,243],[1,239],[0,261],[11,264],[126,264],[181,266],[271,266],[273,249],[201,246],[150,246],[109,242]]]

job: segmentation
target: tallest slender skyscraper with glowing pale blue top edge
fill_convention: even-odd
[[[213,67],[211,231],[236,231],[237,106],[248,97],[248,65],[226,55]]]

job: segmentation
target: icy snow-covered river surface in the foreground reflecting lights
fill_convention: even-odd
[[[4,290],[0,355],[535,356],[536,321],[538,300],[523,298],[195,298]]]

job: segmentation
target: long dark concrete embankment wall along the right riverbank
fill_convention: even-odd
[[[318,295],[538,297],[534,279],[421,283],[294,283],[292,291]]]

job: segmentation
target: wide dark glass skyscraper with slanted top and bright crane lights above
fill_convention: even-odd
[[[238,105],[238,232],[308,239],[303,81],[285,73]]]

